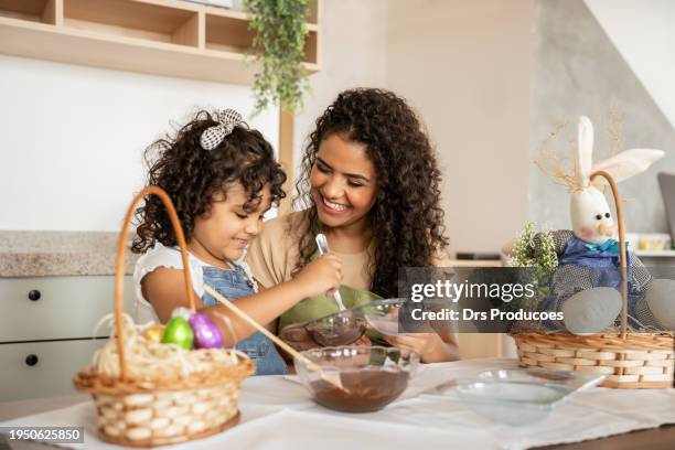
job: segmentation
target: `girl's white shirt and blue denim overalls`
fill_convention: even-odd
[[[194,255],[189,254],[190,274],[194,291],[200,296],[205,307],[218,304],[218,301],[204,291],[203,285],[208,285],[228,300],[235,301],[257,291],[256,282],[249,274],[246,262],[231,261],[232,269],[211,266]],[[178,247],[164,247],[160,243],[141,256],[136,262],[133,281],[136,285],[136,321],[160,323],[152,306],[143,298],[140,281],[159,267],[182,269],[181,253]],[[265,334],[255,332],[235,347],[246,353],[256,363],[256,375],[281,375],[287,373],[286,363],[277,347]]]

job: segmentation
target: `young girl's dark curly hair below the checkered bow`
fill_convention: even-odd
[[[175,205],[185,239],[190,242],[195,218],[208,211],[214,195],[226,194],[233,183],[240,183],[248,195],[245,211],[255,210],[260,191],[269,183],[272,204],[286,196],[281,189],[286,173],[276,162],[271,144],[244,122],[234,127],[213,150],[200,144],[202,132],[218,125],[215,116],[201,110],[175,137],[167,136],[146,149],[148,185],[162,188]],[[157,154],[156,154],[157,153]],[[136,211],[139,222],[131,250],[144,253],[160,242],[176,245],[169,214],[157,196],[146,199]]]

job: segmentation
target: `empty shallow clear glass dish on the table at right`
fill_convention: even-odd
[[[460,379],[459,398],[475,413],[512,426],[544,419],[569,395],[598,385],[604,375],[536,368],[496,369]]]

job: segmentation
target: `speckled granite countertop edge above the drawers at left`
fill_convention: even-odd
[[[115,275],[114,232],[0,231],[0,277]],[[139,255],[127,247],[125,272]]]

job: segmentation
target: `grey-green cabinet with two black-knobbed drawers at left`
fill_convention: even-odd
[[[0,278],[0,401],[74,394],[73,376],[107,341],[114,277]],[[133,286],[125,279],[125,311]],[[93,339],[98,338],[98,339]]]

